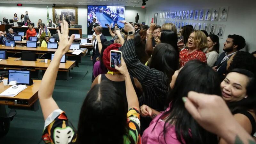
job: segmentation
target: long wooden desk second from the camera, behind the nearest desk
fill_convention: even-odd
[[[12,69],[12,68],[28,68],[28,69],[35,69],[35,70],[46,70],[50,65],[50,61],[48,63],[39,62],[42,59],[37,59],[36,61],[25,61],[25,60],[16,60],[17,58],[8,58],[7,60],[0,61],[0,69]],[[75,61],[67,60],[66,63],[60,63],[59,71],[68,72],[71,68],[75,67]]]

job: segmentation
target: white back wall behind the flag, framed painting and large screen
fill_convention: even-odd
[[[17,4],[1,4],[0,5],[0,21],[3,17],[6,19],[12,19],[14,13],[17,13],[19,19],[20,15],[28,11],[28,16],[32,22],[38,22],[38,19],[47,24],[47,6],[49,8],[49,16],[52,19],[52,5],[51,4],[22,4],[22,6],[17,6]],[[57,5],[61,6],[61,5]],[[67,5],[62,5],[67,6]],[[78,24],[82,25],[82,34],[87,34],[87,5],[68,5],[73,7],[78,7]],[[145,9],[140,7],[126,7],[125,20],[135,22],[135,15],[139,13],[139,22],[145,22]],[[20,20],[19,20],[20,21]]]

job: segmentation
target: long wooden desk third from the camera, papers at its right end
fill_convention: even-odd
[[[15,43],[27,44],[27,41],[23,40],[23,41],[17,41]],[[14,47],[11,47],[11,46],[2,46],[2,45],[0,45],[0,50],[7,50],[7,52],[12,52],[12,53],[22,52],[22,51],[30,51],[30,52],[36,52],[36,54],[44,54],[44,53],[47,53],[47,52],[54,53],[54,52],[57,51],[57,49],[48,49],[48,48],[45,48],[45,47],[37,47],[37,48],[26,47],[26,46],[14,46]],[[80,53],[79,55],[74,55],[74,54],[72,54],[72,52],[73,52],[73,50],[69,50],[66,53],[66,55],[67,56],[85,56],[86,55],[86,51]]]

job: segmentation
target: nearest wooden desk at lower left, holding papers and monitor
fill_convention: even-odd
[[[6,78],[5,78],[6,79]],[[0,105],[11,105],[20,107],[30,107],[38,99],[38,90],[41,85],[41,80],[33,80],[34,84],[28,85],[27,88],[21,91],[15,97],[4,97],[0,96]],[[0,93],[4,92],[10,86],[4,86],[4,83],[0,83]],[[18,104],[14,103],[17,100]]]

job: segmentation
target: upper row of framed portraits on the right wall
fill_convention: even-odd
[[[220,16],[220,17],[219,17]],[[190,10],[177,12],[160,12],[162,19],[177,20],[211,20],[211,21],[227,21],[228,7],[213,8],[206,10]]]

